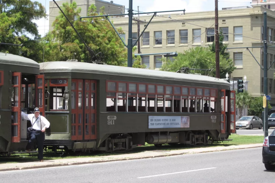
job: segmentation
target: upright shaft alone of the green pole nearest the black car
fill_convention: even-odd
[[[267,16],[264,11],[264,94],[267,95]],[[264,137],[268,136],[268,106],[264,108]]]

